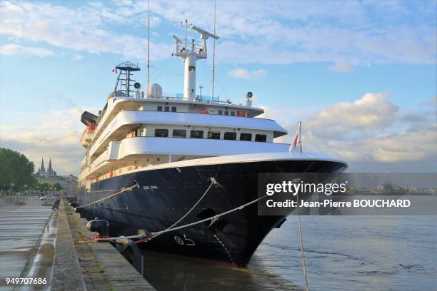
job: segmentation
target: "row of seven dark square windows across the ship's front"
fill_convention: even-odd
[[[168,129],[155,129],[155,136],[159,138],[166,138],[169,136]],[[186,130],[185,129],[174,129],[173,130],[174,138],[186,138]],[[192,130],[190,132],[190,138],[204,138],[204,131],[196,131]],[[220,131],[208,131],[206,138],[209,139],[220,139]],[[233,131],[226,131],[223,135],[223,139],[228,141],[236,140],[236,133]],[[265,134],[256,134],[255,141],[265,143],[267,140],[267,136]],[[252,133],[240,133],[240,141],[252,141]]]

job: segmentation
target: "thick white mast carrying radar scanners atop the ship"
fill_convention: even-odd
[[[184,58],[185,69],[184,69],[184,100],[194,100],[196,99],[196,61],[199,59],[206,59],[206,40],[209,37],[213,39],[218,39],[218,36],[211,34],[208,31],[199,29],[199,27],[190,24],[188,26],[188,21],[185,21],[185,29],[189,27],[194,31],[199,32],[201,35],[202,45],[194,44],[194,39],[191,40],[191,44],[188,44],[188,39],[185,36],[185,42],[181,43],[179,37],[173,35],[176,40],[176,52],[172,56],[179,56]]]

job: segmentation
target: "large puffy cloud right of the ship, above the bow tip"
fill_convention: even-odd
[[[378,171],[380,166],[396,165],[390,170],[408,171],[415,164],[423,169],[421,165],[437,155],[436,108],[401,111],[387,93],[366,93],[353,103],[307,109],[304,116],[297,114],[300,111],[273,111],[276,120],[288,121],[282,124],[290,134],[278,141],[293,138],[297,123],[290,121],[291,116],[303,121],[305,150],[343,158],[353,168]]]

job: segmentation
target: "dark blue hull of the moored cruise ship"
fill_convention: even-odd
[[[256,199],[258,173],[332,173],[345,168],[345,164],[333,161],[278,160],[144,170],[93,183],[90,192],[78,200],[83,205],[139,183],[141,188],[87,206],[84,213],[88,219],[108,220],[111,235],[136,235],[139,229],[164,230],[179,220],[204,194],[210,177],[220,186],[213,186],[179,225]],[[245,266],[263,238],[285,218],[257,214],[254,203],[223,216],[213,225],[201,223],[164,233],[140,246]]]

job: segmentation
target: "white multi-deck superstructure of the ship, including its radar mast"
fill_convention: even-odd
[[[246,104],[206,100],[196,95],[196,61],[206,58],[206,39],[218,39],[196,26],[201,46],[182,42],[177,36],[174,56],[184,58],[184,96],[163,96],[159,84],[149,84],[149,95],[139,91],[132,80],[139,71],[133,63],[121,63],[114,92],[99,115],[84,113],[86,130],[81,144],[86,156],[81,162],[79,183],[89,188],[92,182],[124,175],[136,170],[171,167],[174,163],[196,159],[260,153],[288,154],[288,144],[273,143],[287,134],[276,121],[256,118],[263,109]],[[136,91],[131,90],[134,86]],[[189,162],[187,162],[189,163]]]

